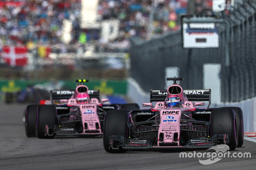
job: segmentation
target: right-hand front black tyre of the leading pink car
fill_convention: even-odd
[[[237,147],[236,114],[231,108],[219,108],[211,113],[211,134],[227,134],[230,151]]]

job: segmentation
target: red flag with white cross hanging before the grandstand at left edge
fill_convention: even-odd
[[[25,66],[28,63],[26,46],[3,46],[2,57],[6,64],[14,66]]]

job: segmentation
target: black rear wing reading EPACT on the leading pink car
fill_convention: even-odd
[[[189,101],[209,101],[211,105],[211,89],[183,90]],[[150,102],[164,101],[167,90],[150,90]]]

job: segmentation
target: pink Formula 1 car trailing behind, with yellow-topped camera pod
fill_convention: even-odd
[[[99,90],[83,85],[88,80],[76,80],[75,90],[52,90],[51,100],[25,109],[27,137],[53,138],[55,135],[102,135],[104,117],[109,110],[139,108],[138,104],[104,104]]]

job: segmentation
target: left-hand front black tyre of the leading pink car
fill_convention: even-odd
[[[127,122],[129,114],[124,110],[109,110],[104,119],[103,145],[107,152],[126,152],[126,150],[111,150],[109,138],[113,135],[127,137]]]

